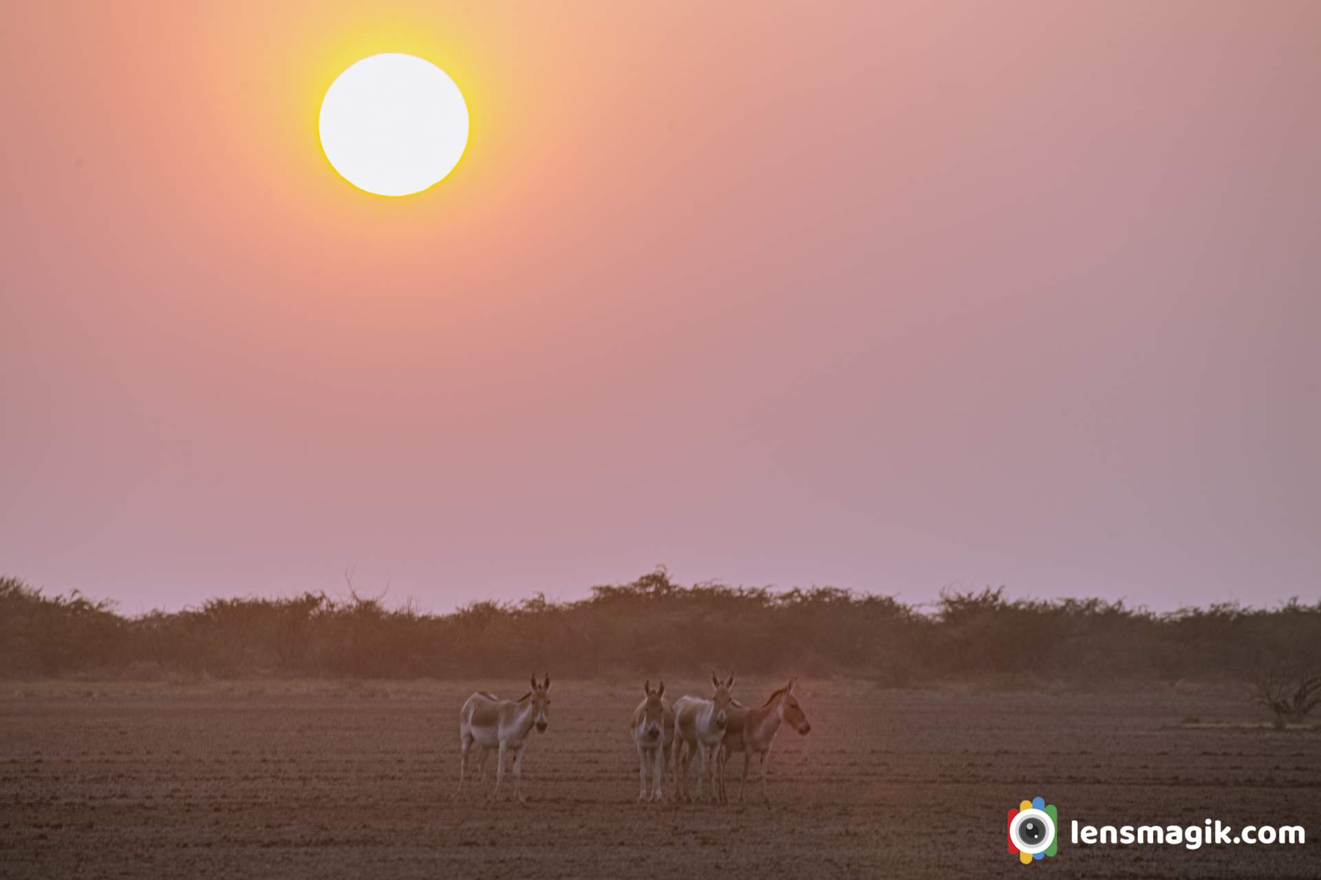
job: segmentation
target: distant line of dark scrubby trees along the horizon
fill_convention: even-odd
[[[379,678],[697,673],[939,679],[1248,679],[1321,669],[1321,603],[1217,604],[1153,613],[1100,599],[1009,600],[946,591],[930,607],[834,587],[684,587],[663,569],[580,602],[211,599],[125,617],[78,592],[0,578],[0,676],[312,676]],[[672,670],[672,672],[671,672]]]

